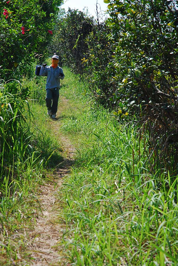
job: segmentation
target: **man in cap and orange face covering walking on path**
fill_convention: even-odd
[[[58,66],[59,56],[54,53],[52,56],[51,66],[42,64],[40,76],[47,76],[46,80],[46,107],[48,115],[52,119],[56,119],[56,112],[59,100],[60,79],[64,79],[64,73],[61,67]]]

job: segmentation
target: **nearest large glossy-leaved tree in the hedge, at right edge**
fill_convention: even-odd
[[[177,1],[105,0],[118,96],[149,130],[151,165],[178,168]],[[113,96],[114,100],[114,96]]]

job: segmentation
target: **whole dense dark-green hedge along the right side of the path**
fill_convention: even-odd
[[[173,176],[178,171],[177,1],[104,2],[109,17],[102,23],[69,9],[56,23],[50,47],[81,74],[95,102],[114,108],[116,116],[136,115],[150,134],[152,168]]]

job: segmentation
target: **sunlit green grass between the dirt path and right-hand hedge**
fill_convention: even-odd
[[[62,128],[78,139],[76,164],[63,183],[69,262],[178,265],[178,177],[150,172],[149,140],[142,142],[132,121],[119,124],[101,106],[81,108],[83,95],[73,101],[76,111]]]

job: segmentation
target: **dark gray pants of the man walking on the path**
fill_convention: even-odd
[[[59,100],[59,89],[46,89],[46,107],[51,110],[51,115],[56,115]]]

